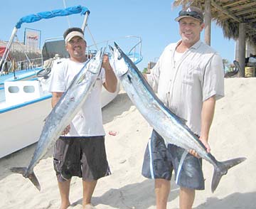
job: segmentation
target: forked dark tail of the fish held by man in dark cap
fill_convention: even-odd
[[[242,163],[242,161],[245,161],[245,160],[246,160],[246,158],[237,158],[237,159],[231,159],[228,161],[218,162],[217,166],[214,167],[214,171],[213,171],[213,180],[212,180],[212,184],[211,184],[212,193],[217,188],[218,183],[220,183],[220,178],[223,175],[228,173],[228,169]]]

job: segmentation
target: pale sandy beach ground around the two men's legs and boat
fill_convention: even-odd
[[[211,152],[218,161],[246,157],[223,176],[215,193],[210,191],[213,166],[203,161],[205,191],[196,193],[196,209],[256,208],[256,78],[225,79],[225,97],[216,103],[210,129]],[[111,176],[101,178],[92,204],[96,208],[156,208],[154,181],[141,175],[144,149],[151,127],[121,90],[103,108],[107,157]],[[14,130],[15,131],[15,130]],[[112,132],[115,135],[110,135]],[[8,140],[8,139],[6,139]],[[22,139],[21,139],[22,140]],[[27,166],[36,145],[0,159],[0,208],[58,208],[60,197],[53,170],[52,150],[35,167],[41,183],[39,192],[28,179],[11,173],[12,166]],[[171,181],[168,208],[178,208],[179,188]],[[82,208],[82,182],[73,178],[69,208]]]

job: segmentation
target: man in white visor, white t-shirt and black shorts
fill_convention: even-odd
[[[53,107],[87,61],[86,41],[82,29],[68,28],[63,37],[70,58],[58,62],[52,70],[50,92],[53,95]],[[97,179],[110,175],[105,151],[100,94],[102,85],[109,92],[115,92],[117,78],[107,55],[103,58],[102,68],[104,69],[101,70],[85,104],[55,144],[53,165],[60,190],[60,209],[68,208],[70,205],[69,192],[72,176],[82,177],[82,208],[92,209],[94,207],[91,204],[91,198]]]

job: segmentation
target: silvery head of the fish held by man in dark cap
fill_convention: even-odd
[[[121,48],[119,48],[117,43],[114,43],[114,47],[111,45],[109,45],[109,47],[111,53],[110,64],[112,65],[114,74],[120,78],[128,72],[129,63],[127,63],[126,55],[121,50]]]

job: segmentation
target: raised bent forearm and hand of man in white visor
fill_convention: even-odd
[[[105,82],[103,85],[107,91],[114,93],[117,90],[117,77],[114,75],[107,55],[104,55],[102,68],[105,69]]]

